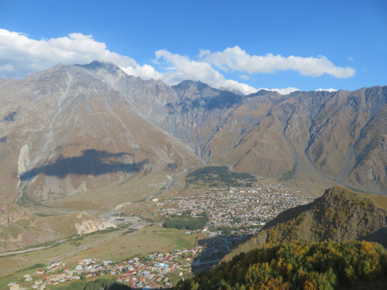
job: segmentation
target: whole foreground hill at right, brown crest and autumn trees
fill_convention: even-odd
[[[385,289],[387,251],[376,241],[385,237],[386,205],[382,196],[327,189],[311,204],[279,214],[215,269],[175,289],[371,289],[377,283]]]

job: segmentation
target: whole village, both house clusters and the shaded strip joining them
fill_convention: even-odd
[[[223,254],[235,246],[237,240],[256,234],[266,222],[282,211],[308,204],[315,199],[313,196],[295,193],[281,184],[269,184],[265,188],[255,189],[213,187],[201,195],[153,198],[144,210],[156,220],[179,217],[187,212],[195,218],[205,212],[209,218],[207,226],[198,231],[185,230],[184,233],[204,234],[210,244],[175,249],[172,252],[153,252],[115,262],[108,259],[82,259],[71,269],[66,268],[65,262],[57,262],[25,274],[23,281],[11,282],[8,286],[10,290],[45,289],[68,284],[73,280],[89,280],[91,277],[107,275],[131,288],[171,287],[180,279],[192,275],[194,267],[216,264]],[[119,216],[110,220],[115,219],[117,222],[124,220]],[[162,223],[159,225],[162,226]],[[226,233],[227,227],[233,230]]]

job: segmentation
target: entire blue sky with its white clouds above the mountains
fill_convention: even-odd
[[[113,62],[244,93],[387,85],[387,1],[0,0],[0,77]]]

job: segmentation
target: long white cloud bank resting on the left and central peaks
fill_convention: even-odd
[[[23,33],[0,28],[0,77],[23,78],[31,73],[50,68],[58,63],[87,64],[92,61],[114,63],[126,73],[144,79],[162,79],[176,84],[184,79],[201,80],[210,86],[230,86],[244,93],[255,91],[252,86],[226,80],[224,75],[205,62],[195,62],[187,56],[156,51],[156,60],[164,59],[173,65],[160,73],[154,67],[137,64],[131,57],[111,52],[106,44],[93,39],[92,35],[72,33],[68,37],[34,40]]]

